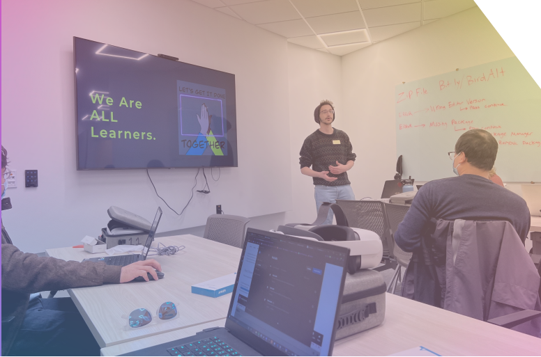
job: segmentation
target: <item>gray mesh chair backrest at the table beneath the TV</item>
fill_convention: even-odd
[[[250,219],[231,214],[213,214],[206,220],[204,238],[242,248]]]

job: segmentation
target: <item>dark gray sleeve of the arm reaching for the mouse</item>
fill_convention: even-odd
[[[22,253],[2,244],[2,289],[31,294],[105,283],[120,283],[122,267],[102,262],[66,262],[54,257]]]

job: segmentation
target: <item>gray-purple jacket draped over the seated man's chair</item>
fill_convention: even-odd
[[[439,220],[434,233],[424,239],[429,242],[427,247],[431,248],[429,247],[426,253],[423,250],[421,260],[427,262],[425,254],[428,254],[432,255],[433,261],[446,262],[442,267],[435,267],[439,270],[439,286],[443,289],[452,286],[452,289],[446,289],[445,296],[442,296],[442,307],[445,310],[487,321],[489,315],[499,317],[516,310],[524,310],[522,306],[528,306],[532,299],[537,299],[537,296],[527,292],[532,291],[528,289],[533,285],[528,284],[536,280],[534,277],[538,276],[538,269],[526,253],[511,223]],[[451,250],[448,248],[450,246]],[[447,257],[447,253],[452,253],[453,256]],[[496,301],[505,299],[505,304],[491,303],[496,278]],[[507,286],[510,281],[515,288],[502,289],[502,286]],[[533,291],[538,292],[538,289],[539,287],[535,286]],[[500,315],[502,312],[503,315]],[[541,330],[537,331],[538,334],[539,331]]]

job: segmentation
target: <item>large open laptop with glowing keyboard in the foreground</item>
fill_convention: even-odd
[[[248,228],[225,327],[123,356],[332,356],[348,257]]]

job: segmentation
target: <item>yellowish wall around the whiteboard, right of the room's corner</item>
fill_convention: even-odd
[[[357,198],[379,198],[383,181],[395,174],[397,84],[513,55],[474,7],[342,56],[345,129],[357,148],[356,170],[350,175]],[[508,183],[508,188],[520,194],[519,184]]]

